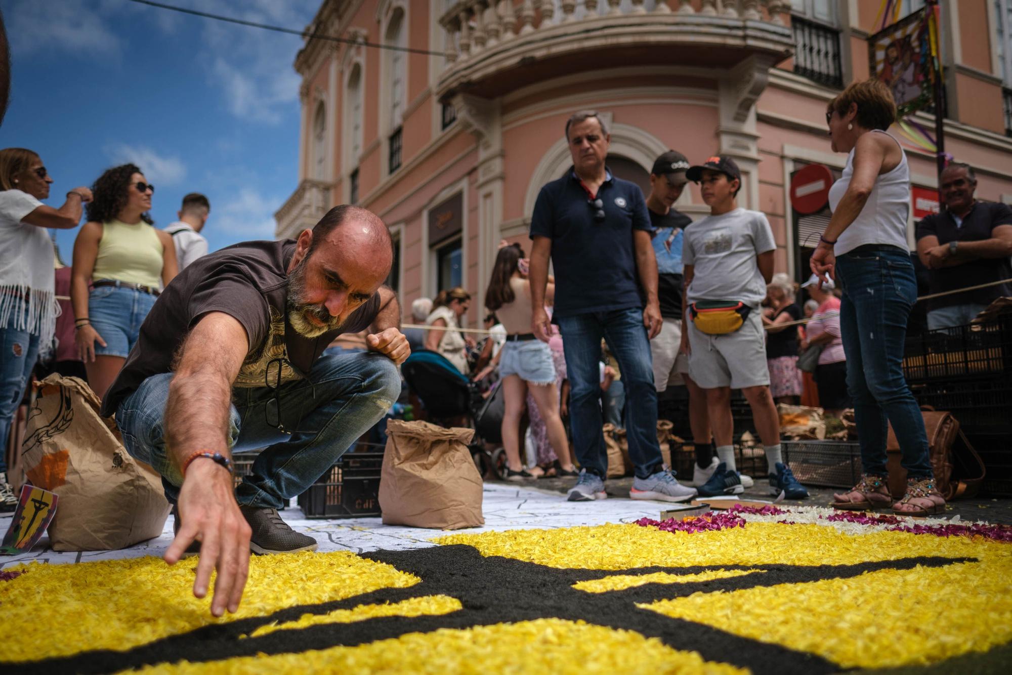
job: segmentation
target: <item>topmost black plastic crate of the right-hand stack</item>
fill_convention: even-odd
[[[907,339],[903,373],[911,385],[1012,374],[1012,314],[983,324],[925,331]]]

